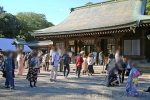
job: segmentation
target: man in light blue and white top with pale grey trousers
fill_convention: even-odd
[[[58,71],[58,63],[59,63],[60,56],[58,54],[57,48],[54,48],[54,52],[52,53],[52,69],[50,75],[50,81],[56,81],[57,71]]]

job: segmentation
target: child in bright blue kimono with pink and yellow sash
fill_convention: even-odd
[[[130,93],[131,96],[138,96],[136,87],[138,86],[138,77],[140,72],[136,69],[136,63],[131,64],[131,71],[127,79],[126,91]]]

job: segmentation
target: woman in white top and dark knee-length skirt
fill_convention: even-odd
[[[93,69],[94,58],[92,53],[88,55],[87,63],[88,63],[88,75],[92,75],[94,73]]]

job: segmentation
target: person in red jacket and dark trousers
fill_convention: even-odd
[[[79,56],[76,58],[76,66],[77,66],[78,78],[80,77],[82,63],[83,63],[83,58],[81,57],[81,54],[79,54]]]

